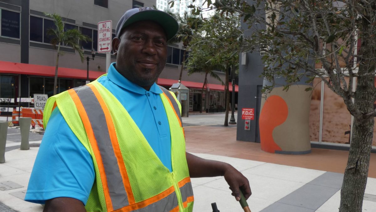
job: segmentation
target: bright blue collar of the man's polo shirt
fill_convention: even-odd
[[[125,78],[123,75],[121,75],[115,68],[115,64],[116,63],[112,63],[110,65],[110,67],[108,68],[108,74],[107,74],[107,78],[115,83],[116,85],[124,88],[124,89],[127,89],[128,91],[132,91],[134,93],[138,93],[138,94],[145,94],[146,93],[146,90],[145,88],[139,86],[139,85],[136,85],[135,83],[133,82],[130,82],[127,78]],[[159,88],[159,86],[154,83],[151,87],[150,87],[150,92],[153,92],[155,94],[162,94],[162,90],[161,88]]]

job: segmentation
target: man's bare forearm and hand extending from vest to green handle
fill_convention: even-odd
[[[186,153],[189,174],[194,177],[216,177],[224,176],[229,184],[232,195],[237,201],[240,200],[240,190],[248,199],[252,194],[248,179],[243,176],[232,165],[220,161],[212,161]]]

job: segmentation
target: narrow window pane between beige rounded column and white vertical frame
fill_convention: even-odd
[[[311,141],[318,141],[320,135],[321,79],[313,80],[311,110],[309,111],[309,136]]]

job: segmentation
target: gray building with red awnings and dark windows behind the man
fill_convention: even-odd
[[[0,116],[18,105],[32,107],[30,103],[18,103],[17,98],[33,97],[33,94],[53,94],[57,51],[50,44],[47,30],[53,21],[46,13],[59,14],[64,29],[78,29],[92,42],[81,42],[85,58],[92,58],[97,50],[97,23],[112,20],[112,38],[115,27],[128,9],[152,7],[155,0],[0,0]],[[182,46],[168,46],[167,64],[158,84],[169,88],[179,79],[182,62]],[[62,44],[63,55],[59,58],[57,92],[84,85],[86,75],[94,80],[106,73],[106,55],[96,53],[94,60],[81,62],[73,48]],[[116,56],[111,55],[111,62]],[[87,69],[89,71],[87,71]],[[218,72],[224,80],[224,73]],[[190,88],[190,109],[197,109],[198,89],[202,88],[204,73],[188,76],[183,70],[182,83]],[[224,86],[216,79],[209,79],[209,105],[224,105]],[[202,104],[205,106],[206,104]],[[206,108],[204,108],[206,109]]]

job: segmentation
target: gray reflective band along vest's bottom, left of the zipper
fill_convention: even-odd
[[[168,195],[167,197],[159,200],[158,202],[149,204],[146,207],[137,209],[137,210],[132,210],[132,212],[169,212],[175,207],[179,205],[177,201],[177,196],[176,193],[173,192],[172,194]]]

